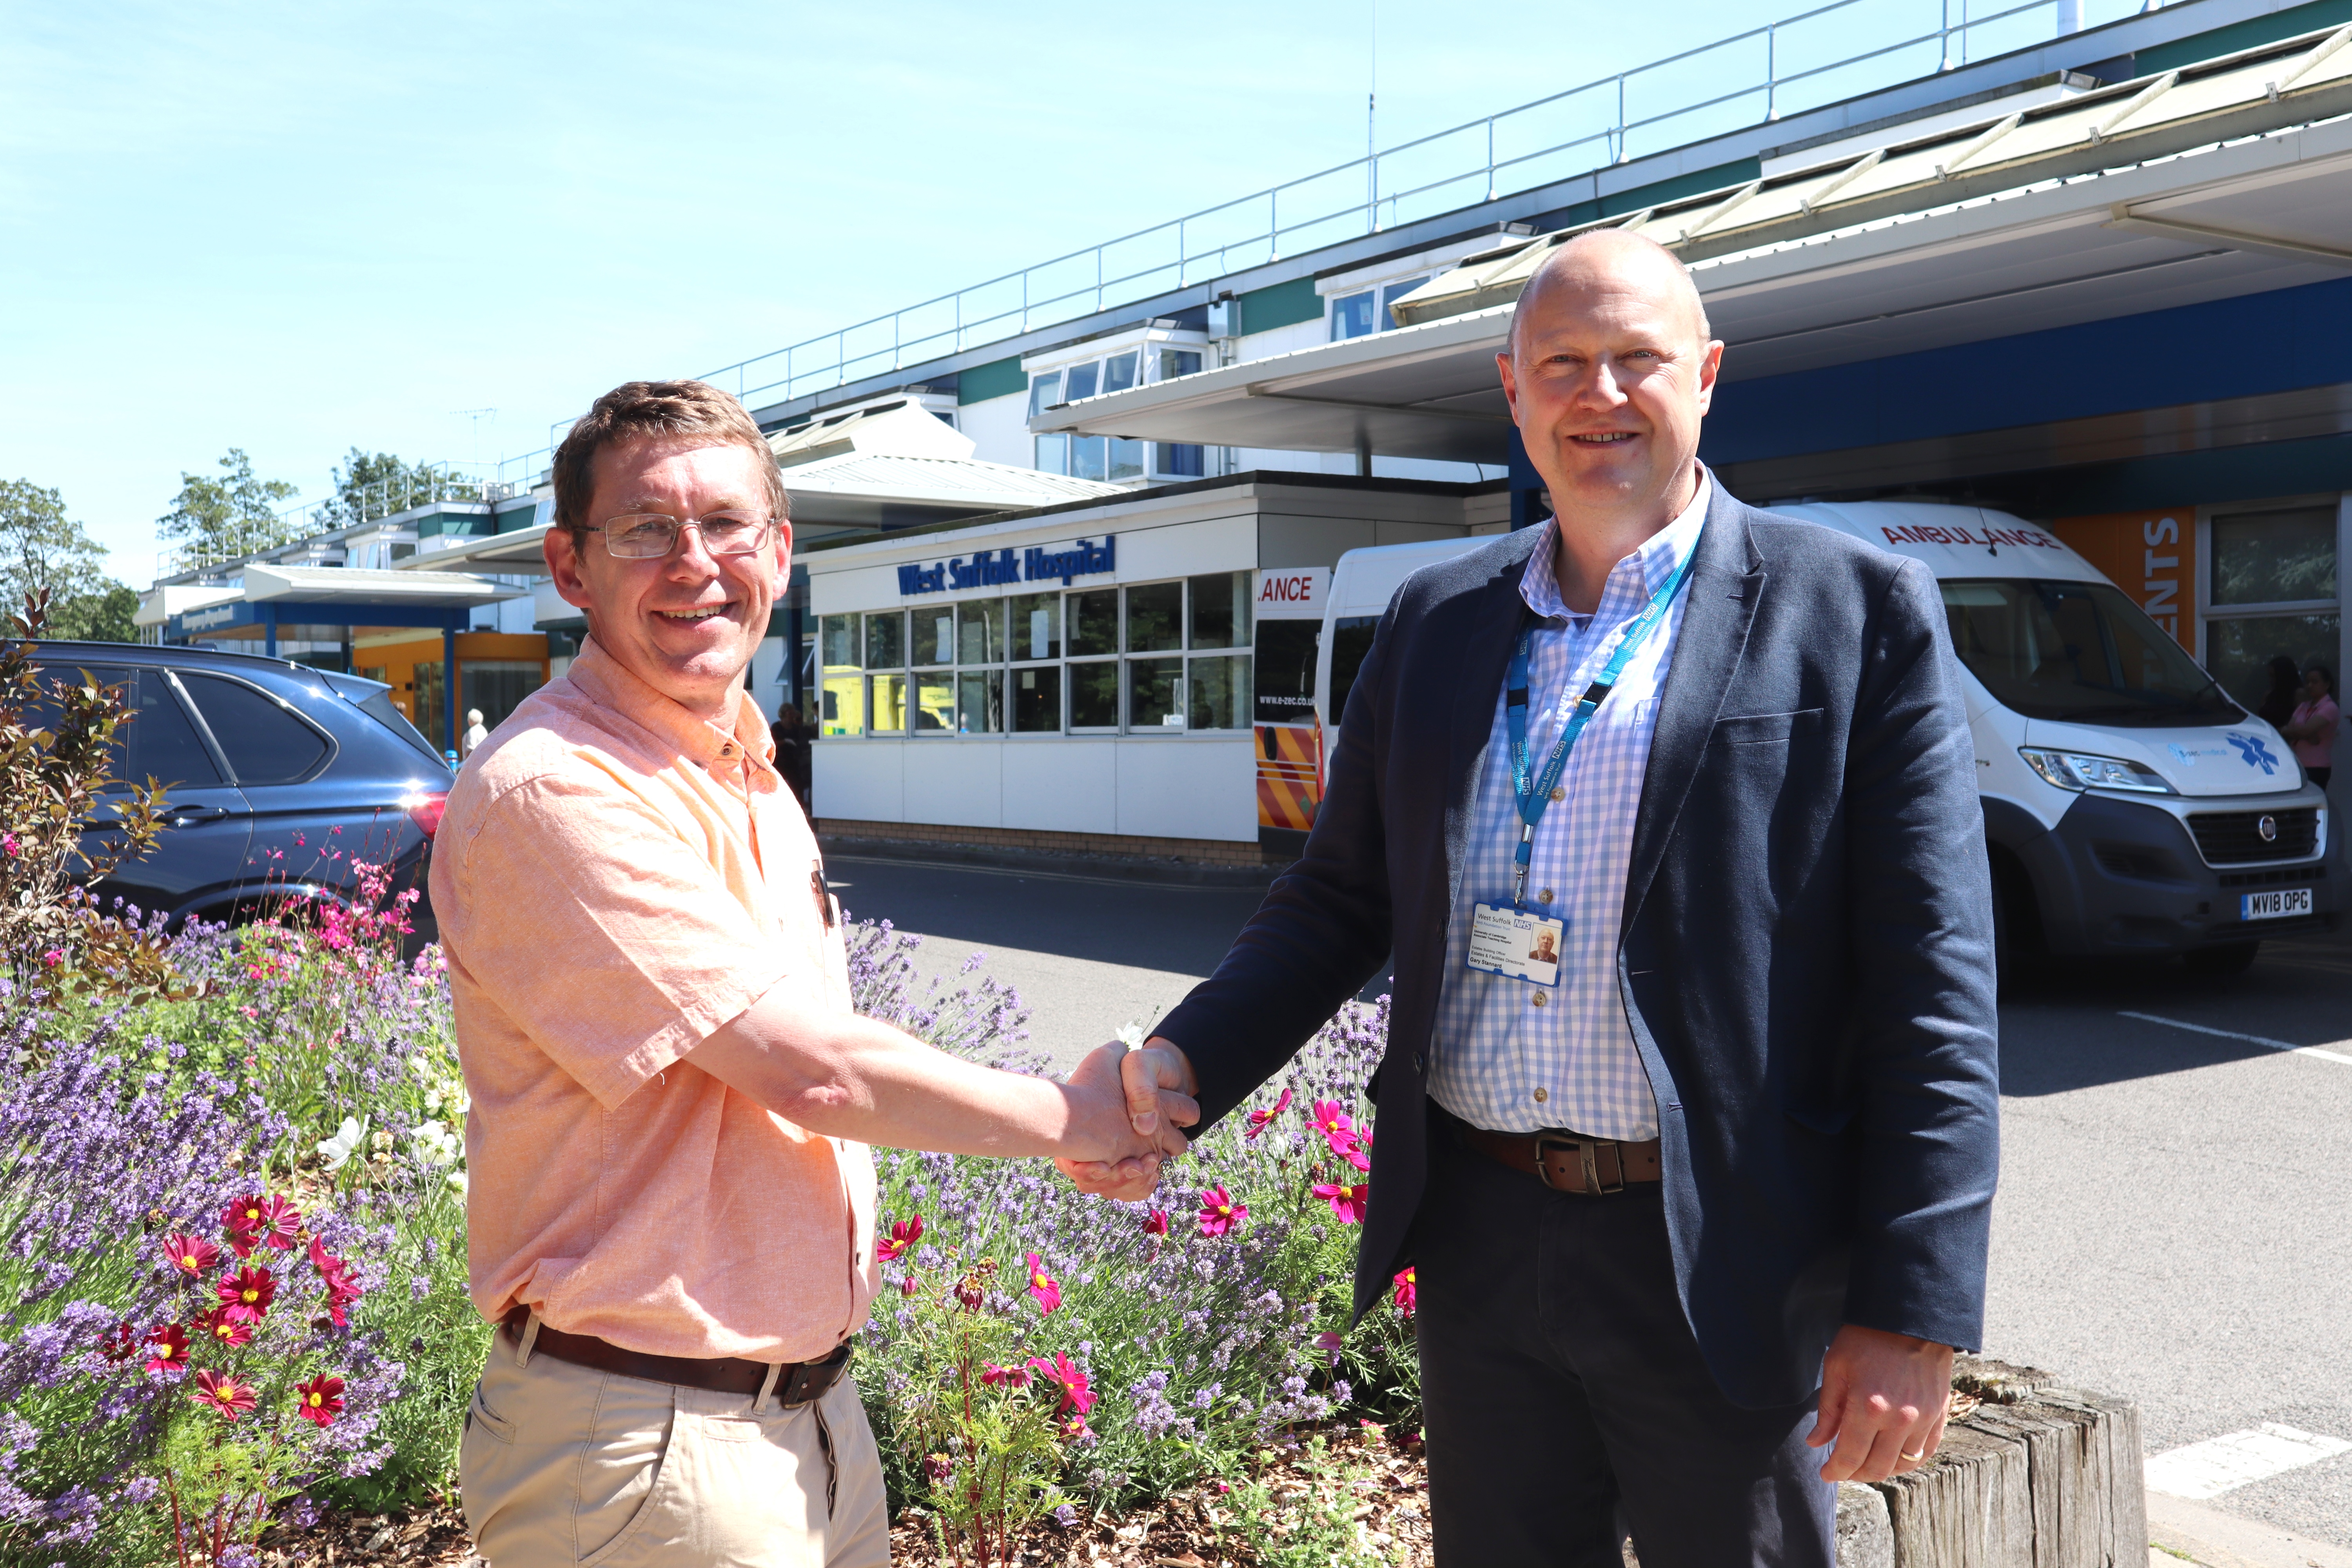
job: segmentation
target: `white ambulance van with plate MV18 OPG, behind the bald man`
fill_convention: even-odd
[[[1773,508],[1929,564],[1959,654],[2004,957],[2180,954],[2237,973],[2265,936],[2333,929],[2326,795],[2114,583],[2046,529],[1915,501]],[[1350,550],[1315,712],[1331,752],[1406,576],[1489,538]]]

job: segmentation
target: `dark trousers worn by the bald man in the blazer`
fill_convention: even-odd
[[[1745,1410],[1698,1356],[1656,1182],[1543,1187],[1432,1105],[1414,1227],[1439,1568],[1832,1568],[1813,1401]]]

